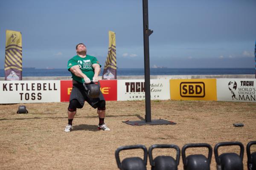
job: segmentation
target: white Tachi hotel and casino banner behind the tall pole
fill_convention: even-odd
[[[145,99],[144,79],[117,80],[117,100]],[[150,80],[151,99],[170,99],[169,79]]]

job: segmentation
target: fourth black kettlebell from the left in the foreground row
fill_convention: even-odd
[[[238,145],[240,154],[222,153],[218,155],[218,148],[221,146]],[[214,147],[214,155],[217,170],[243,170],[244,145],[241,142],[220,142]]]

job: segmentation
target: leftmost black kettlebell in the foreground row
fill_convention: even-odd
[[[143,159],[141,159],[140,157],[125,158],[122,160],[122,163],[121,163],[119,152],[121,150],[129,150],[129,149],[143,149],[144,158]],[[117,167],[120,170],[146,170],[147,169],[146,165],[147,165],[148,150],[144,145],[131,145],[131,146],[119,147],[116,150],[115,156],[116,156]]]

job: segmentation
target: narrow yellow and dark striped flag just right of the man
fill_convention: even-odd
[[[105,62],[102,79],[116,79],[116,34],[108,32],[108,57]]]

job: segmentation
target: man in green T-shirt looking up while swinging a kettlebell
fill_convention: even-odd
[[[99,81],[98,76],[100,74],[101,65],[96,57],[87,55],[86,53],[86,46],[83,43],[79,43],[76,45],[77,55],[67,62],[67,69],[72,74],[73,88],[70,94],[69,106],[67,108],[68,125],[65,127],[65,132],[70,132],[72,130],[76,109],[83,108],[84,101],[88,102],[93,108],[97,108],[97,113],[99,114],[98,129],[110,130],[104,123],[106,102],[102,92],[99,91],[99,96],[96,98],[92,98],[93,95],[91,96],[87,93],[88,85],[91,82],[95,83]]]

